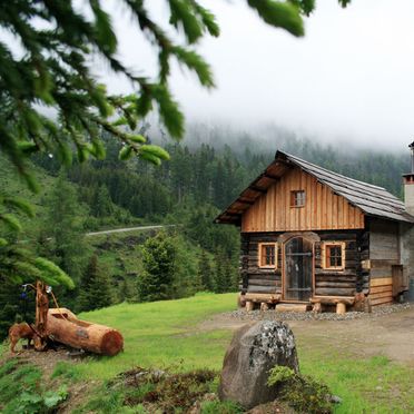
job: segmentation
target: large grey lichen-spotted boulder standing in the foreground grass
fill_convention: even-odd
[[[274,401],[278,388],[266,383],[276,365],[299,371],[289,326],[269,321],[243,326],[235,333],[224,359],[219,398],[235,401],[245,408]]]

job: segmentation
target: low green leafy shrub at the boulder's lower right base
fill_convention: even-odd
[[[279,400],[298,413],[333,413],[329,388],[309,376],[296,374],[289,367],[275,366],[270,369],[267,385],[280,390]]]

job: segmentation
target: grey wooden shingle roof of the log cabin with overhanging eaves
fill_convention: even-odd
[[[243,213],[287,170],[295,167],[328,186],[336,195],[361,208],[367,216],[414,223],[414,217],[406,213],[404,203],[385,188],[345,177],[282,151],[276,152],[274,161],[241,191],[239,197],[216,218],[215,223],[239,225]]]

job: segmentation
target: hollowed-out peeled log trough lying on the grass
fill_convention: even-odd
[[[47,334],[72,348],[101,355],[117,355],[124,348],[122,335],[117,329],[78,319],[65,307],[48,310]]]

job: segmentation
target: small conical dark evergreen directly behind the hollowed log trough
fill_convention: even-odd
[[[99,266],[98,256],[92,255],[80,282],[77,310],[93,310],[114,303],[108,274]]]

